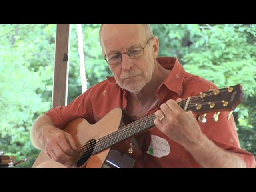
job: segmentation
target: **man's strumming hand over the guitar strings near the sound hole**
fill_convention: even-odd
[[[54,126],[42,128],[41,146],[49,158],[61,164],[71,164],[72,156],[77,151],[71,134]]]

